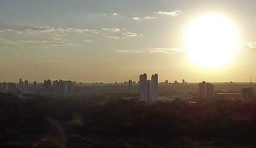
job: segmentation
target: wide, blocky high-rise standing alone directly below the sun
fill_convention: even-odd
[[[214,97],[214,86],[213,84],[206,83],[203,81],[198,87],[198,97],[200,98],[213,98]]]

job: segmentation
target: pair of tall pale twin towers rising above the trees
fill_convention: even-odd
[[[151,82],[147,74],[140,75],[140,101],[156,101],[158,99],[158,75],[152,75]]]

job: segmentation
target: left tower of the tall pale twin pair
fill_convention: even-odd
[[[148,101],[147,98],[147,74],[140,75],[140,101]]]

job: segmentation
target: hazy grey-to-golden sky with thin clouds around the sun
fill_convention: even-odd
[[[160,82],[256,81],[255,8],[255,0],[0,0],[0,82],[123,82],[142,73]],[[240,33],[225,67],[188,60],[184,30],[209,12]]]

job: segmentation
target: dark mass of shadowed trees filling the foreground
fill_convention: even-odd
[[[256,147],[256,102],[0,96],[0,147]]]

